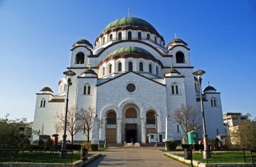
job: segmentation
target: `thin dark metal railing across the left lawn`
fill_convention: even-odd
[[[61,158],[61,152],[66,157]],[[22,150],[0,149],[0,162],[32,162],[32,163],[73,163],[73,150]]]

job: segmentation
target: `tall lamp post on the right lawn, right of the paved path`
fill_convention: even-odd
[[[197,85],[200,90],[200,99],[201,99],[201,111],[202,111],[202,118],[203,118],[203,159],[208,158],[210,155],[207,154],[208,151],[208,142],[207,142],[207,134],[205,129],[205,117],[204,117],[204,109],[203,109],[203,96],[201,91],[201,81],[202,81],[202,75],[205,74],[204,70],[196,70],[193,72],[194,75],[197,76]]]

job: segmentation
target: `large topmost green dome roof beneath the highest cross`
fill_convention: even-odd
[[[156,29],[143,19],[137,17],[123,17],[121,19],[116,19],[112,23],[108,24],[102,33],[108,32],[108,30],[113,30],[118,27],[141,27],[145,30],[158,34]]]

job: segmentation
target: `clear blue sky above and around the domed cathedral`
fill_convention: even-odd
[[[243,1],[0,0],[0,117],[34,119],[35,93],[55,93],[77,40],[92,44],[115,19],[150,22],[166,44],[177,37],[206,71],[203,86],[220,91],[223,112],[256,116],[256,3]]]

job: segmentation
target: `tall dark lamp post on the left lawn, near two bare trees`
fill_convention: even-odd
[[[69,105],[69,87],[72,85],[71,82],[71,78],[72,76],[75,75],[75,72],[71,71],[71,70],[67,70],[65,72],[63,72],[63,74],[66,75],[67,78],[67,89],[66,89],[66,107],[65,107],[65,122],[64,122],[64,131],[63,131],[63,141],[62,141],[62,148],[61,148],[61,158],[65,158],[67,155],[66,151],[66,140],[67,140],[67,135],[66,135],[66,131],[67,131],[67,107]]]

